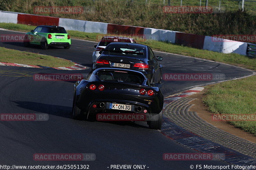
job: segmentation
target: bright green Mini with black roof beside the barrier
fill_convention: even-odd
[[[25,47],[36,44],[40,45],[42,49],[47,49],[49,46],[69,49],[71,39],[63,27],[37,26],[34,30],[25,34],[23,43]]]

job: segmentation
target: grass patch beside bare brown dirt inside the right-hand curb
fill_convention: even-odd
[[[216,114],[252,114],[256,115],[256,76],[226,81],[206,86],[206,97],[203,99],[208,109]],[[256,122],[229,122],[256,136]]]

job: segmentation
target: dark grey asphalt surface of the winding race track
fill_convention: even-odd
[[[0,31],[0,34],[13,32]],[[94,42],[72,40],[64,48],[23,47],[22,43],[0,42],[1,47],[52,55],[90,66]],[[210,61],[156,53],[164,60],[163,73],[224,73],[226,79],[252,74],[251,71]],[[145,122],[88,122],[72,119],[73,83],[34,81],[35,73],[82,73],[80,71],[0,66],[0,113],[47,113],[48,121],[1,121],[0,165],[146,165],[146,169],[188,170],[190,165],[230,165],[222,161],[164,161],[163,153],[196,152],[177,144]],[[164,96],[209,81],[164,81]],[[34,161],[34,153],[95,153],[95,161]]]

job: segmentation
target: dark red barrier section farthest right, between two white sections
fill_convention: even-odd
[[[203,49],[204,35],[196,35],[196,34],[190,34],[190,33],[176,33],[175,44]]]

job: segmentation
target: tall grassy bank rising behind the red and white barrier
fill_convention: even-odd
[[[183,5],[199,5],[199,0],[183,0]],[[238,11],[238,2],[221,1],[226,7],[222,14],[166,14],[163,6],[168,0],[2,0],[0,10],[35,14],[36,6],[82,6],[81,14],[38,14],[44,16],[81,19],[113,24],[133,25],[167,29],[198,35],[215,34],[256,34],[256,3],[245,2],[245,12]],[[180,6],[180,0],[171,1],[172,6]],[[205,1],[202,0],[202,6]],[[208,0],[209,6],[219,6],[219,0]],[[90,10],[88,10],[90,9]],[[248,9],[248,10],[247,10]],[[249,10],[250,9],[250,10]]]

